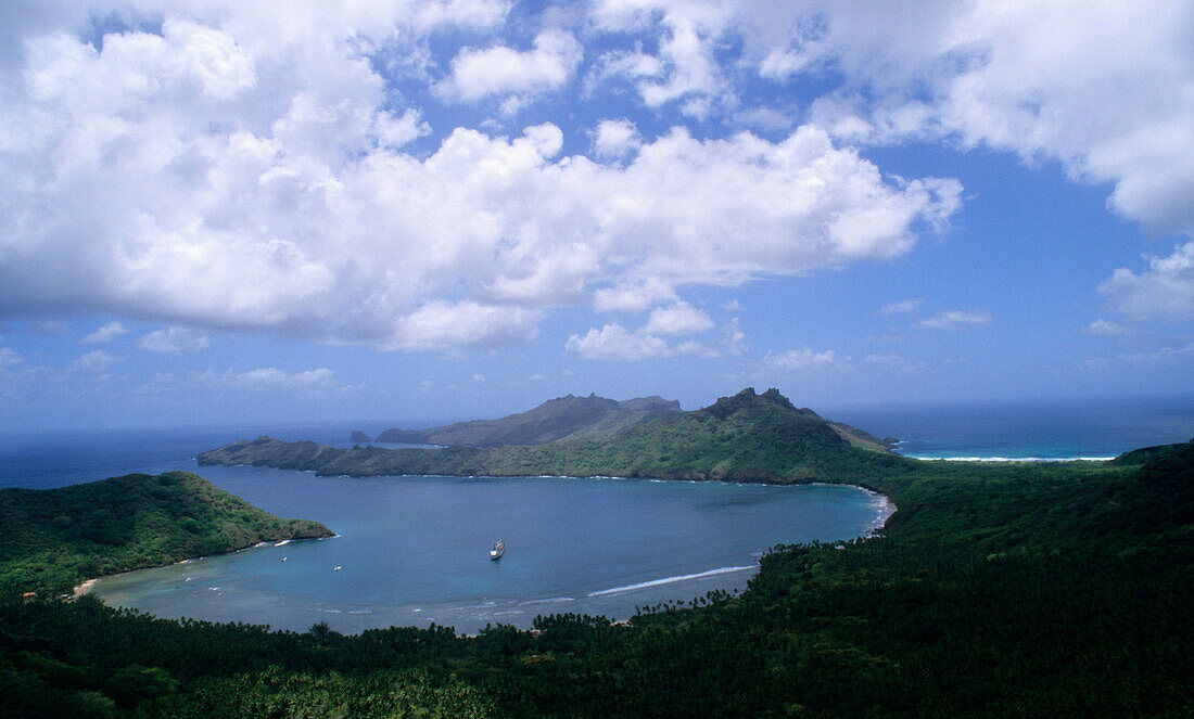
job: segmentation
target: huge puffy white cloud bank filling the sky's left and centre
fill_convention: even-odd
[[[505,7],[482,5],[482,23]],[[425,42],[470,6],[414,7],[298,4],[279,21],[235,4],[203,21],[174,12],[161,35],[115,32],[101,49],[60,32],[10,43],[0,304],[400,351],[492,347],[533,341],[553,308],[644,311],[681,285],[898,256],[959,206],[956,182],[884,178],[812,125],[778,142],[676,129],[624,165],[560,156],[554,125],[457,129],[410,154],[426,123],[367,54]],[[700,30],[712,21],[676,20],[669,42],[695,38],[691,57],[713,57],[718,33]],[[87,17],[63,27],[76,23]],[[570,39],[552,32],[529,55],[560,60],[567,78]],[[704,81],[678,89],[688,70],[678,45],[669,52],[657,92],[704,97]],[[469,97],[558,75],[529,86],[478,73],[461,86]]]

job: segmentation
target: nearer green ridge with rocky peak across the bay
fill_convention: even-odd
[[[559,401],[554,401],[559,402]],[[611,402],[611,401],[605,401]],[[550,404],[550,403],[548,403]],[[775,390],[743,390],[696,411],[669,413],[602,440],[564,439],[500,447],[441,450],[328,447],[272,438],[198,455],[199,464],[250,464],[318,475],[618,476],[734,482],[864,482],[875,471],[911,466],[874,438],[796,409]],[[853,428],[848,428],[853,429]]]

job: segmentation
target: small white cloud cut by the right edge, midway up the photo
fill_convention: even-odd
[[[1168,258],[1150,258],[1149,269],[1140,274],[1116,269],[1098,292],[1113,310],[1132,320],[1194,320],[1194,242]]]

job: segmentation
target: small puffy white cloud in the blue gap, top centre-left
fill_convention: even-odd
[[[451,61],[451,76],[437,89],[444,98],[464,101],[544,92],[564,85],[583,57],[584,48],[571,33],[547,30],[525,52],[503,45],[461,50]]]

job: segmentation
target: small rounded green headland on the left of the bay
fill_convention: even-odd
[[[330,537],[189,472],[0,490],[0,589],[61,594],[81,581],[258,541]]]

